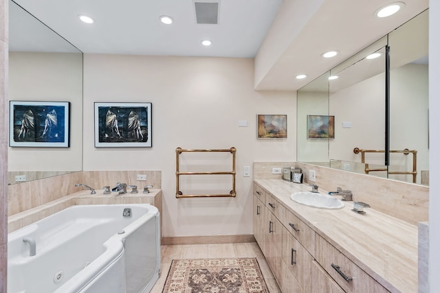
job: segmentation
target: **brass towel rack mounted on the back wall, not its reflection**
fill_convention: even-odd
[[[182,152],[230,152],[232,154],[232,171],[231,172],[180,172],[179,171],[179,155]],[[232,147],[225,150],[184,150],[182,148],[176,149],[176,198],[234,198],[235,192],[235,153],[236,148]],[[180,175],[232,175],[232,190],[229,194],[182,194],[179,190],[179,176]]]

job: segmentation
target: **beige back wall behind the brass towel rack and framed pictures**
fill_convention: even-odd
[[[243,166],[294,161],[296,93],[254,91],[252,59],[85,54],[84,61],[84,169],[161,170],[163,237],[252,234],[252,174],[243,177]],[[152,102],[153,148],[94,148],[94,102]],[[256,114],[287,114],[288,138],[257,140]],[[177,147],[232,146],[236,198],[175,198]]]

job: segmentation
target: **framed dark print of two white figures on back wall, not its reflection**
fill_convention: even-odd
[[[96,148],[151,148],[151,103],[95,103]]]

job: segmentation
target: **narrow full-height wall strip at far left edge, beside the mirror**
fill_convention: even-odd
[[[8,1],[0,0],[0,293],[6,292],[8,195]]]

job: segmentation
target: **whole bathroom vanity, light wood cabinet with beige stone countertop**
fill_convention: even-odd
[[[255,179],[254,236],[282,292],[417,292],[417,226],[290,199],[307,184]],[[327,191],[320,189],[321,194]]]

